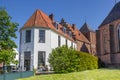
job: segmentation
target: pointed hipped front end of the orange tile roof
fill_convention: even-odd
[[[52,21],[50,18],[40,10],[36,10],[35,13],[30,17],[30,19],[24,24],[23,28],[31,27],[44,27],[50,28],[53,27]]]

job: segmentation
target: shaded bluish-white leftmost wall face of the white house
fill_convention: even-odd
[[[26,30],[31,30],[31,42],[30,43],[25,43],[25,33],[26,33]],[[21,44],[20,44],[20,57],[21,57],[21,61],[20,61],[20,64],[22,66],[22,70],[24,70],[24,52],[25,51],[30,51],[31,52],[31,58],[33,56],[33,51],[34,51],[34,29],[25,29],[25,30],[22,30],[21,31]],[[32,61],[31,61],[31,69],[32,69]]]

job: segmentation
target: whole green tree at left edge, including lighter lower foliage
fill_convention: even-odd
[[[13,48],[17,45],[13,39],[17,38],[15,32],[18,30],[18,24],[12,22],[11,19],[7,11],[0,8],[0,62],[4,64],[10,64],[16,55]]]

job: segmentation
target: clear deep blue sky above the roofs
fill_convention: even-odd
[[[58,22],[64,18],[66,22],[76,24],[78,29],[86,19],[96,30],[114,5],[115,0],[0,0],[0,6],[6,8],[12,21],[19,23],[18,29],[36,9],[40,9],[48,15],[53,13]],[[19,46],[19,31],[16,34],[15,42]]]

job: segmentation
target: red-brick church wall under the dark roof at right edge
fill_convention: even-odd
[[[100,51],[100,55],[101,55],[101,60],[105,63],[110,63],[114,64],[114,63],[120,63],[120,53],[118,51],[118,34],[117,34],[117,27],[120,24],[120,20],[116,20],[113,21],[109,24],[106,24],[104,26],[101,26],[99,28],[100,30],[100,34],[101,34],[101,51]],[[114,26],[114,34],[111,39],[114,38],[114,42],[112,44],[114,44],[114,46],[111,46],[112,53],[110,51],[110,32],[109,32],[109,26],[113,25]],[[112,34],[111,34],[112,35]],[[97,42],[98,44],[98,42]]]

